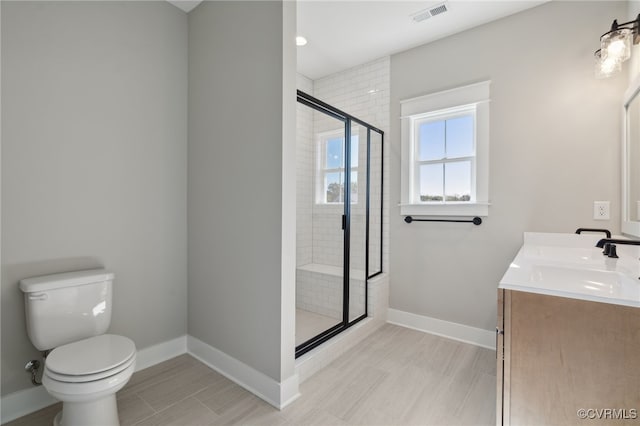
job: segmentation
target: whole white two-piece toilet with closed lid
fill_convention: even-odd
[[[42,384],[62,401],[54,425],[119,425],[116,392],[136,364],[136,347],[104,334],[111,323],[113,273],[104,269],[20,281],[31,343],[51,352]]]

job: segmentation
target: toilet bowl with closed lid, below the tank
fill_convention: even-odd
[[[134,343],[104,334],[54,349],[45,361],[42,384],[62,401],[54,425],[118,425],[116,392],[135,369]]]

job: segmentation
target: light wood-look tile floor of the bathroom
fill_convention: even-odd
[[[122,426],[494,425],[495,352],[394,325],[300,386],[278,411],[189,355],[133,375]],[[59,404],[7,423],[51,425]]]

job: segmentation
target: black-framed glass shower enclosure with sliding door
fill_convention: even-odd
[[[298,91],[296,357],[368,313],[382,273],[384,133]]]

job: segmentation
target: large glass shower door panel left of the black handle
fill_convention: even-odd
[[[345,120],[298,109],[297,351],[343,326],[344,201],[350,195]]]

